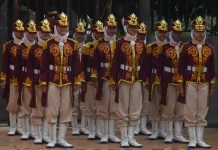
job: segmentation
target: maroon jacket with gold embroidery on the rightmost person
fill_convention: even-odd
[[[201,56],[201,57],[199,57]],[[200,58],[200,59],[199,59]],[[206,72],[190,71],[187,68],[205,67]],[[197,44],[193,41],[183,45],[182,52],[179,58],[178,67],[178,82],[183,83],[184,87],[187,82],[215,84],[215,52],[214,48],[208,43],[202,44],[201,54],[198,52]],[[180,97],[184,99],[184,97]]]

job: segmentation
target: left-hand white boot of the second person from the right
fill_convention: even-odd
[[[164,140],[164,143],[171,144],[173,142],[173,122],[172,121],[166,121],[165,122],[165,129],[166,129],[166,138]]]

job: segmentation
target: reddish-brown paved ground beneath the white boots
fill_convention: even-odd
[[[213,150],[218,150],[218,130],[206,129],[205,130],[205,141],[212,145]],[[46,145],[35,145],[33,140],[20,141],[20,136],[7,136],[8,127],[0,128],[0,150],[45,150]],[[119,131],[117,131],[119,136]],[[184,136],[187,137],[187,131],[184,129]],[[164,144],[163,140],[150,141],[148,137],[140,135],[136,139],[139,143],[143,144],[141,150],[187,150],[187,144]],[[120,149],[119,144],[99,144],[99,140],[88,141],[87,136],[71,136],[71,130],[67,132],[67,141],[74,145],[75,150],[118,150]],[[55,148],[63,149],[63,148]],[[127,150],[131,150],[128,148]],[[136,150],[136,149],[134,149]],[[196,148],[196,150],[203,150]]]

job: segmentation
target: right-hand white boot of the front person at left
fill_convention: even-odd
[[[73,145],[67,143],[66,141],[66,132],[67,132],[67,124],[61,123],[59,124],[59,135],[57,144],[64,148],[73,148]]]

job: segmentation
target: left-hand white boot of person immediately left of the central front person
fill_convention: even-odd
[[[106,144],[108,143],[108,120],[100,120],[100,122],[101,122],[101,132],[102,132],[100,143]]]

